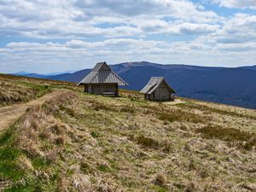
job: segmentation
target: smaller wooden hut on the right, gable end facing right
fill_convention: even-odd
[[[173,101],[172,94],[176,93],[163,77],[152,77],[140,92],[145,99],[159,102]]]

